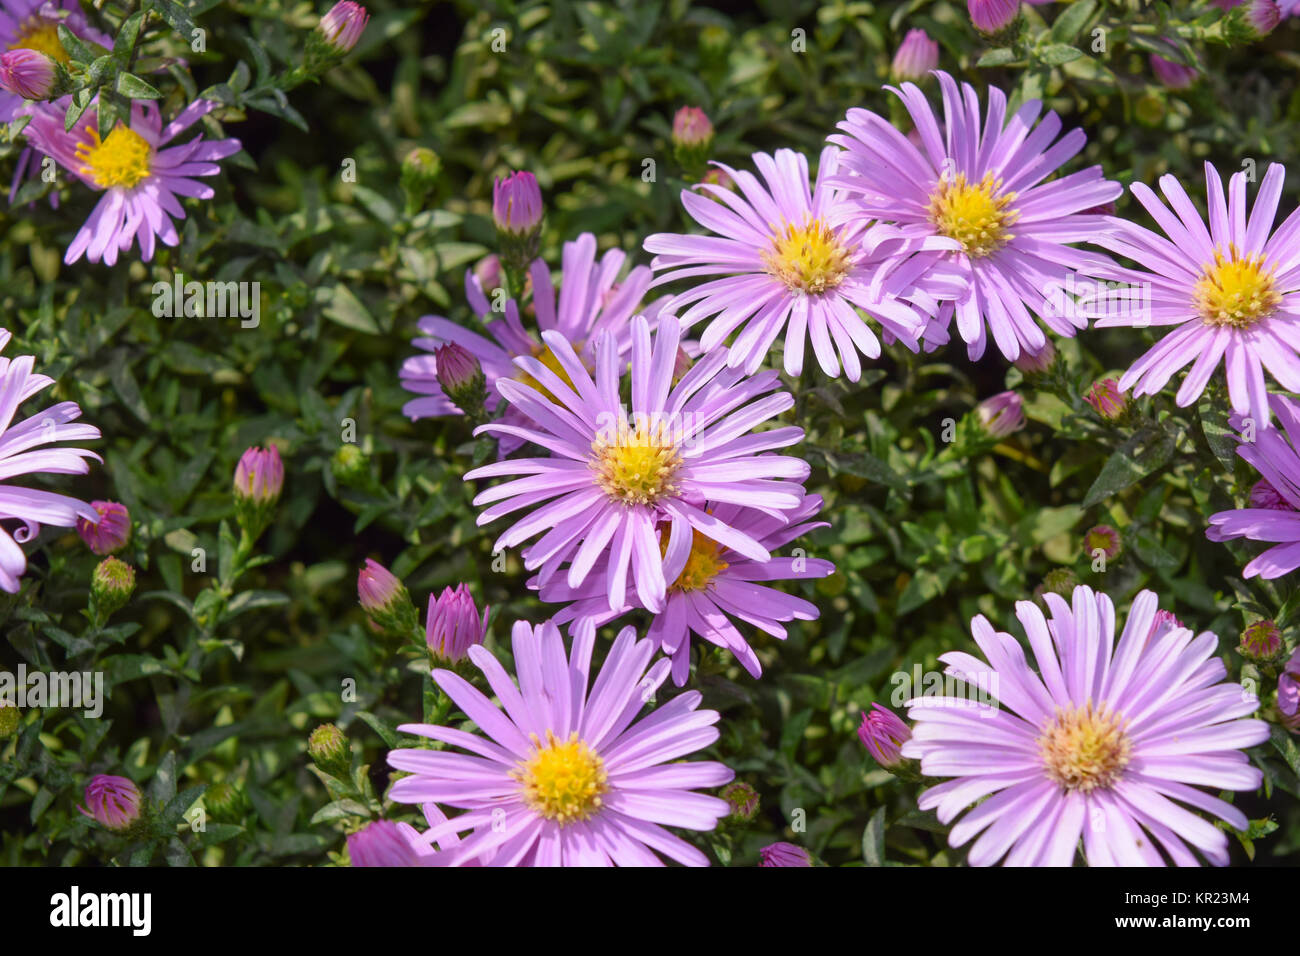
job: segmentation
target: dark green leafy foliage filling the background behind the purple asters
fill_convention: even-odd
[[[124,557],[139,575],[131,604],[95,631],[82,615],[94,555],[75,535],[47,529],[22,593],[0,598],[0,669],[104,670],[109,684],[104,719],[30,710],[0,740],[0,861],[341,862],[344,834],[365,819],[413,818],[381,801],[384,756],[391,728],[432,706],[428,667],[369,630],[356,606],[359,564],[372,557],[393,568],[421,607],[430,591],[468,581],[491,605],[489,643],[504,657],[510,622],[550,613],[526,592],[517,554],[493,570],[499,531],[474,525],[460,476],[486,445],[462,420],[412,424],[400,414],[396,369],[412,354],[415,320],[472,321],[463,273],[494,247],[494,176],[537,174],[547,261],[589,230],[602,248],[645,263],[645,235],[688,228],[677,200],[686,182],[668,143],[679,107],[708,113],[714,155],[729,164],[781,146],[815,159],[846,108],[896,114],[880,87],[897,43],[918,26],[940,42],[941,66],[982,91],[996,83],[1015,100],[1045,96],[1067,127],[1089,134],[1076,164],[1100,163],[1126,185],[1171,172],[1195,196],[1204,159],[1225,174],[1254,160],[1262,176],[1268,161],[1296,155],[1300,21],[1227,46],[1213,42],[1219,13],[1206,5],[1113,0],[1088,3],[1075,33],[1053,33],[1084,5],[1027,8],[1028,52],[989,55],[965,4],[945,1],[377,0],[347,62],[291,92],[280,116],[247,103],[248,83],[261,82],[247,38],[268,52],[270,74],[282,73],[316,22],[311,4],[192,3],[205,53],[166,30],[151,34],[147,57],[186,61],[157,73],[164,112],[225,85],[218,94],[231,105],[205,122],[244,143],[212,181],[217,199],[186,203],[182,245],[148,264],[64,267],[91,208],[84,190],[64,187],[57,209],[30,190],[22,199],[32,202],[0,208],[0,312],[18,339],[8,352],[35,354],[38,371],[58,378],[49,401],[79,402],[104,432],[104,467],[56,484],[127,505],[136,533]],[[1105,53],[1092,51],[1083,23],[1105,26]],[[508,38],[504,52],[491,49],[495,29]],[[793,30],[805,31],[803,52],[792,49]],[[1082,55],[1062,62],[1072,56],[1062,46]],[[1161,51],[1197,62],[1201,82],[1164,90],[1147,64]],[[978,66],[980,57],[997,65]],[[415,146],[433,148],[442,173],[424,211],[408,216],[398,170]],[[17,152],[0,147],[6,174]],[[642,179],[645,159],[655,160],[654,182]],[[355,182],[342,176],[346,160]],[[1283,212],[1297,199],[1294,177]],[[1119,215],[1143,217],[1127,198]],[[152,285],[176,273],[259,281],[259,328],[155,317]],[[1183,412],[1169,397],[1147,402],[1131,428],[1104,425],[1082,402],[1095,378],[1127,367],[1149,341],[1114,330],[1058,342],[1069,369],[1054,389],[1024,389],[1030,427],[970,459],[941,454],[939,434],[944,419],[1020,385],[996,354],[971,364],[959,343],[919,358],[896,349],[857,386],[806,373],[790,419],[807,429],[809,489],[826,497],[832,527],[803,546],[840,570],[805,587],[819,622],[792,627],[785,644],[758,639],[762,680],[729,658],[701,659],[706,706],[724,711],[714,756],[762,795],[753,823],[701,838],[719,862],[753,865],[775,839],[831,864],[959,862],[937,822],[916,812],[916,787],[863,752],[861,709],[888,704],[890,674],[935,669],[937,654],[971,646],[972,615],[1011,628],[1014,602],[1053,568],[1072,568],[1121,606],[1157,589],[1190,626],[1219,633],[1234,674],[1236,637],[1256,617],[1278,618],[1295,643],[1295,581],[1248,585],[1239,568],[1253,550],[1204,538],[1204,515],[1240,501],[1251,481],[1231,454],[1222,394]],[[365,473],[344,481],[332,459],[346,420]],[[214,607],[203,593],[225,578],[230,475],[246,446],[268,441],[289,475],[260,544],[268,561]],[[1115,480],[1124,467],[1132,480]],[[1080,548],[1100,523],[1126,542],[1104,575]],[[195,548],[211,555],[207,572],[192,570]],[[341,701],[348,678],[356,704]],[[325,780],[306,757],[307,735],[324,721],[351,739],[348,784]],[[1257,862],[1295,862],[1297,752],[1277,731],[1256,760],[1274,792],[1238,797],[1257,832],[1269,831],[1249,851]],[[126,844],[92,827],[75,808],[94,773],[135,779],[178,835]],[[182,814],[216,783],[237,787],[248,808],[192,832]],[[806,832],[789,829],[797,810]],[[1244,862],[1247,849],[1234,858]]]

